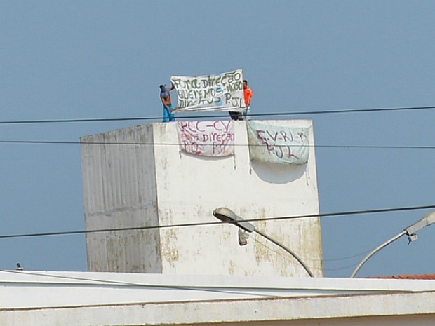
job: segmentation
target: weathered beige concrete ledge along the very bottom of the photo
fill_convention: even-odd
[[[314,325],[312,324],[314,320],[334,318],[333,325],[374,325],[371,323],[373,317],[394,316],[394,325],[406,325],[405,322],[409,322],[408,317],[421,315],[422,318],[418,319],[420,322],[414,323],[414,325],[434,325],[434,301],[435,292],[431,291],[352,294],[335,297],[19,308],[1,309],[0,324],[133,326],[262,322],[262,325],[266,325],[266,323],[267,325],[279,325],[282,321],[287,321],[286,325],[293,325],[293,323],[288,322],[298,320],[297,325]],[[406,318],[400,318],[401,316]],[[365,317],[370,323],[365,322]],[[326,324],[321,323],[320,325]]]

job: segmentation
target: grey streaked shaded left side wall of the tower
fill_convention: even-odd
[[[81,142],[86,229],[159,225],[152,126]],[[161,273],[157,229],[88,233],[86,248],[89,271]]]

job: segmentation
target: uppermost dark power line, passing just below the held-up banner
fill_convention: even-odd
[[[347,110],[323,110],[323,111],[297,111],[297,112],[274,112],[265,114],[249,114],[249,116],[300,116],[311,114],[346,114],[346,113],[366,113],[382,111],[416,111],[429,110],[435,107],[385,107],[374,109],[347,109]],[[199,115],[199,116],[178,116],[179,119],[191,118],[228,118],[227,114]],[[161,116],[154,117],[131,117],[131,118],[74,118],[74,119],[46,119],[46,120],[11,120],[0,121],[0,125],[31,124],[31,123],[91,123],[91,122],[113,122],[113,121],[147,121],[161,120]]]

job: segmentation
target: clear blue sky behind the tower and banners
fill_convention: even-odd
[[[161,120],[170,76],[243,69],[253,114],[435,106],[434,1],[1,1],[0,235],[84,229],[83,135]],[[267,118],[263,116],[260,118]],[[277,116],[276,118],[289,118]],[[321,213],[434,205],[435,109],[298,114],[314,123]],[[350,147],[349,147],[350,146]],[[325,276],[431,210],[322,217]],[[289,212],[291,215],[291,212]],[[435,227],[359,276],[434,273]],[[86,271],[85,236],[0,238],[0,269]]]

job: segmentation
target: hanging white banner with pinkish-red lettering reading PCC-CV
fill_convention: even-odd
[[[177,121],[180,149],[201,156],[234,155],[232,121]]]

